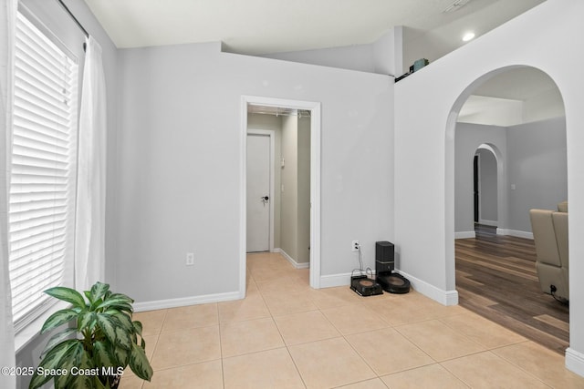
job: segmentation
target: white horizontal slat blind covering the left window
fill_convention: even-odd
[[[78,66],[18,14],[9,271],[16,330],[72,285]],[[54,300],[54,299],[53,299]]]

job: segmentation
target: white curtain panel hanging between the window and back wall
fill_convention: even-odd
[[[106,210],[106,87],[101,47],[87,39],[78,138],[75,278],[78,290],[104,282]]]

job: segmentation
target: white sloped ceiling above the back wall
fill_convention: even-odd
[[[484,34],[543,1],[85,0],[120,48],[222,41],[247,55],[370,44],[393,26],[452,50],[465,30]]]

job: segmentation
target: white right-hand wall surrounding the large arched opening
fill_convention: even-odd
[[[506,67],[532,66],[557,84],[566,107],[569,234],[584,235],[584,2],[547,0],[424,67],[395,87],[395,239],[401,270],[436,300],[453,303],[454,127],[474,87]],[[568,47],[558,45],[566,42]],[[423,113],[423,114],[421,114]],[[423,163],[421,160],[423,156]],[[427,193],[432,190],[433,196]],[[424,244],[420,244],[423,226]],[[584,375],[584,241],[569,240],[570,348]]]

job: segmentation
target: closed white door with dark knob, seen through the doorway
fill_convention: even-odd
[[[247,252],[270,250],[270,137],[247,135]]]

